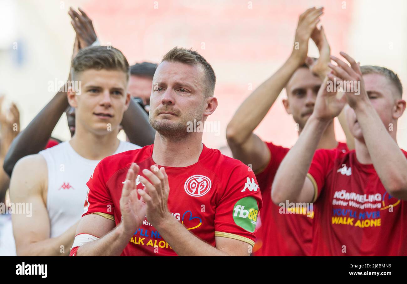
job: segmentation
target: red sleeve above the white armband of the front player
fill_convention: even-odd
[[[110,192],[104,180],[103,160],[96,166],[88,183],[88,194],[85,200],[83,216],[88,214],[98,214],[105,218],[114,220],[114,204]]]

